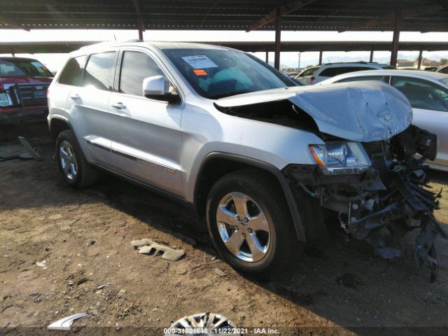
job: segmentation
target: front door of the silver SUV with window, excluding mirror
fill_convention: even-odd
[[[172,78],[162,70],[153,55],[143,50],[120,51],[118,64],[116,87],[109,101],[114,169],[181,195],[183,103],[169,104],[149,99],[142,92],[144,78]]]

